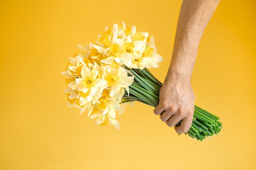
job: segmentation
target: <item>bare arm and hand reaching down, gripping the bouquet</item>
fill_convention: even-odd
[[[193,121],[195,95],[191,75],[198,47],[220,0],[183,0],[168,73],[159,92],[155,115],[177,133],[189,130]]]

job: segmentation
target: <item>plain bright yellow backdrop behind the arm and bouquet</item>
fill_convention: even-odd
[[[195,104],[223,130],[200,142],[177,135],[136,103],[114,126],[68,108],[64,76],[76,44],[123,20],[154,36],[163,82],[182,1],[1,0],[0,170],[255,170],[256,12],[222,0],[202,38],[192,76]]]

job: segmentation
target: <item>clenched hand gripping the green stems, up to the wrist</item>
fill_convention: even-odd
[[[159,104],[154,113],[169,127],[175,126],[180,120],[180,126],[175,126],[177,133],[189,130],[193,121],[195,95],[190,80],[183,78],[164,82],[159,92]]]

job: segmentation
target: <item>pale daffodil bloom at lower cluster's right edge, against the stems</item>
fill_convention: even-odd
[[[133,77],[128,76],[125,69],[121,66],[112,68],[105,66],[102,78],[108,82],[108,86],[111,87],[110,96],[116,95],[121,88],[126,88],[129,92],[129,86],[133,82]]]

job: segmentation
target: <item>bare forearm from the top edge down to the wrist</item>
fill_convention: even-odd
[[[220,0],[182,2],[167,80],[169,77],[190,81],[202,35],[219,2]]]

